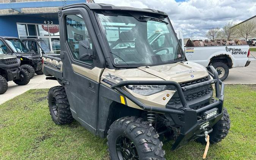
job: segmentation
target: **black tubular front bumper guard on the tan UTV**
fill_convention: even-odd
[[[208,129],[210,129],[210,127],[216,124],[223,116],[222,111],[224,101],[224,83],[219,80],[218,72],[214,69],[213,66],[207,66],[207,69],[209,71],[209,74],[214,78],[213,80],[208,80],[205,82],[196,83],[194,85],[184,87],[181,87],[179,83],[174,81],[124,81],[116,85],[112,85],[111,88],[119,91],[119,93],[123,94],[125,97],[130,99],[133,103],[138,105],[143,110],[170,115],[174,124],[180,127],[180,134],[172,146],[172,149],[175,150],[186,144],[188,141],[198,138],[198,135],[202,135],[202,133],[207,129],[201,130],[201,125],[209,122],[209,126],[207,127]],[[185,99],[183,91],[188,91],[211,84],[215,84],[215,94],[218,100],[215,100],[211,104],[198,108],[196,110],[190,108],[187,100]],[[182,107],[179,109],[170,109],[145,105],[140,102],[136,97],[127,93],[126,91],[124,91],[124,89],[121,88],[126,85],[173,85],[176,88],[179,98],[181,99]],[[208,111],[212,108],[218,108],[217,115],[207,120],[198,119],[198,115],[201,115],[204,111]]]

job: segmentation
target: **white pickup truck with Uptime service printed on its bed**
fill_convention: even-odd
[[[181,31],[175,32],[178,39],[182,39],[182,45],[184,46]],[[250,64],[251,60],[255,60],[255,58],[249,58],[249,45],[184,47],[184,52],[188,61],[193,61],[203,66],[214,66],[222,81],[228,77],[229,69],[246,67]]]

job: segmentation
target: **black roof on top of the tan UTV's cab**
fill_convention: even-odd
[[[110,4],[99,4],[99,3],[76,3],[72,5],[67,5],[62,8],[63,9],[68,9],[68,8],[73,8],[78,5],[86,5],[90,9],[94,10],[115,10],[115,11],[138,11],[138,12],[147,12],[147,13],[154,13],[154,14],[161,14],[164,16],[168,16],[165,12],[158,11],[155,9],[141,9],[141,8],[133,8],[133,7],[121,7],[121,6],[114,6]]]

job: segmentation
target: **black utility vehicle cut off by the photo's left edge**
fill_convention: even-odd
[[[28,72],[21,69],[20,60],[14,55],[8,55],[0,47],[0,94],[8,89],[8,81],[13,80],[17,85],[27,85],[30,81]]]

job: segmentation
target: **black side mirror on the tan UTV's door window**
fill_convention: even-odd
[[[90,49],[90,42],[88,39],[79,41],[79,60],[86,61],[91,59],[93,55],[93,50]]]

